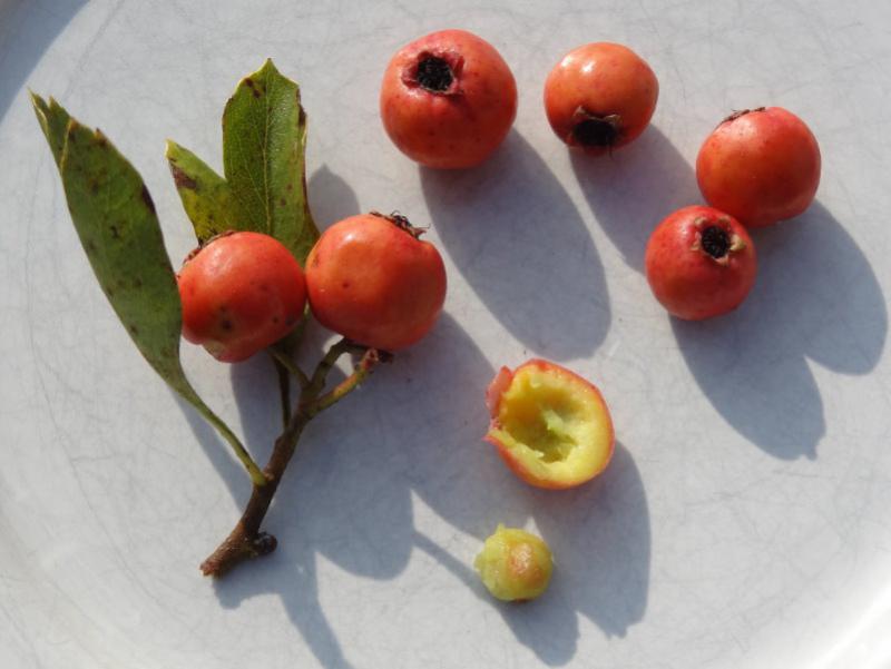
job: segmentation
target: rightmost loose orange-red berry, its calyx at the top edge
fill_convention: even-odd
[[[782,107],[740,111],[705,140],[696,180],[709,205],[748,227],[792,218],[820,185],[820,147],[797,116]]]

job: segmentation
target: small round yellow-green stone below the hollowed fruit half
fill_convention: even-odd
[[[520,601],[545,592],[554,560],[548,545],[535,534],[498,525],[486,540],[473,567],[492,597]]]

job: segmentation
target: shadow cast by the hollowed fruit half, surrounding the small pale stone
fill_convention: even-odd
[[[643,619],[649,592],[650,527],[646,494],[637,466],[621,444],[607,470],[595,481],[562,492],[526,486],[507,471],[497,488],[518,500],[501,503],[501,520],[522,525],[532,516],[555,555],[550,588],[541,599],[523,604],[495,600],[476,571],[423,537],[418,548],[435,558],[470,588],[484,606],[501,613],[517,640],[550,667],[569,662],[578,647],[578,616],[607,636],[624,637]],[[512,491],[510,489],[513,489]],[[462,491],[472,494],[471,490]],[[480,545],[495,530],[479,534]]]

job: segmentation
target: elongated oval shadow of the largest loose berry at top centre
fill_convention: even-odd
[[[609,329],[604,266],[578,210],[516,131],[474,169],[421,168],[446,250],[501,324],[537,355],[594,353]]]

